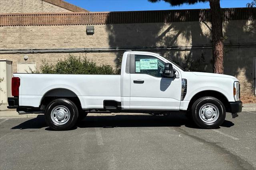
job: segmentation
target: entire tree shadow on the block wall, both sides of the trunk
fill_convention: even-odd
[[[239,15],[233,13],[232,15]],[[110,15],[109,15],[110,16]],[[179,16],[182,17],[182,16]],[[252,16],[248,16],[252,17]],[[232,16],[230,16],[232,18]],[[107,23],[110,22],[108,18]],[[231,20],[224,22],[225,44],[256,43],[256,21]],[[169,23],[136,23],[107,24],[110,47],[166,47],[166,46],[196,46],[212,45],[210,22],[169,22]],[[224,37],[224,38],[225,38]],[[236,40],[236,41],[235,41]],[[253,84],[254,47],[224,47],[224,73],[237,76],[240,70]],[[247,51],[248,50],[248,51]],[[212,48],[198,49],[161,49],[147,50],[164,55],[182,67],[192,65],[190,71],[212,72]],[[121,65],[122,53],[116,53],[116,64]],[[234,57],[230,57],[233,55]],[[244,55],[247,55],[244,57]],[[232,66],[230,66],[232,64]],[[253,88],[253,87],[252,87]]]

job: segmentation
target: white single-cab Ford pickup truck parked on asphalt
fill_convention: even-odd
[[[121,75],[14,73],[8,108],[45,114],[55,130],[72,128],[87,113],[168,114],[186,111],[201,128],[222,125],[242,111],[236,77],[188,72],[158,53],[126,51]]]

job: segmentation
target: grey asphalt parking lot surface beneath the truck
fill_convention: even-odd
[[[256,112],[212,130],[182,113],[88,116],[68,131],[0,119],[0,169],[256,169]]]

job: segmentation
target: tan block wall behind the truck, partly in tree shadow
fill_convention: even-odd
[[[242,93],[253,93],[253,57],[255,46],[234,46],[238,43],[256,43],[255,20],[231,20],[224,22],[224,73],[236,76],[241,83]],[[42,48],[107,48],[107,47],[152,47],[152,46],[190,46],[211,45],[211,25],[208,22],[172,22],[145,24],[102,24],[94,25],[95,33],[86,35],[86,26],[4,26],[0,27],[0,49],[42,49]],[[193,59],[201,56],[205,63],[204,71],[212,72],[212,49],[155,50],[152,52],[184,63],[184,57]],[[103,53],[73,53],[86,56],[98,64],[116,66],[117,58],[123,51]],[[68,53],[0,54],[0,58],[13,61],[13,72],[17,63],[36,62],[40,67],[42,60],[52,63],[68,56]]]

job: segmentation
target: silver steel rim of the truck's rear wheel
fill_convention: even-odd
[[[64,125],[70,119],[70,111],[66,106],[56,106],[52,109],[51,119],[58,125]]]

